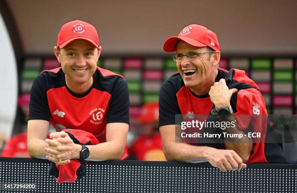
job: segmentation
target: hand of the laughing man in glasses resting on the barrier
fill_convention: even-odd
[[[218,167],[221,171],[240,170],[246,168],[247,164],[242,162],[239,155],[229,149],[212,149],[207,152],[208,162],[214,167]]]

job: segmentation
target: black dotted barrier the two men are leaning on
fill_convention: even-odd
[[[35,184],[35,189],[0,193],[297,193],[297,164],[248,164],[221,172],[209,163],[89,162],[74,183],[57,184],[49,161],[0,158],[0,184]]]

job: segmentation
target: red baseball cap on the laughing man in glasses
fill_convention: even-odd
[[[209,46],[215,51],[220,50],[220,45],[215,33],[211,30],[208,30],[204,26],[191,24],[185,27],[181,30],[178,36],[172,36],[168,38],[163,45],[163,49],[166,52],[176,51],[176,44],[180,40],[196,47]]]

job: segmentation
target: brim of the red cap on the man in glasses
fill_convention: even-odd
[[[193,45],[193,46],[196,46],[196,47],[205,47],[205,46],[207,46],[207,45],[202,44],[201,42],[198,42],[197,40],[193,40],[191,38],[172,36],[172,37],[168,38],[165,41],[165,43],[163,45],[163,49],[166,52],[175,52],[176,51],[176,44],[180,40],[184,41],[185,43],[187,43],[189,45]]]

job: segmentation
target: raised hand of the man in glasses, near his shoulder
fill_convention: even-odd
[[[219,82],[215,82],[209,91],[209,96],[215,108],[223,106],[230,106],[230,100],[233,93],[237,89],[229,89],[226,85],[225,79],[221,78]]]

